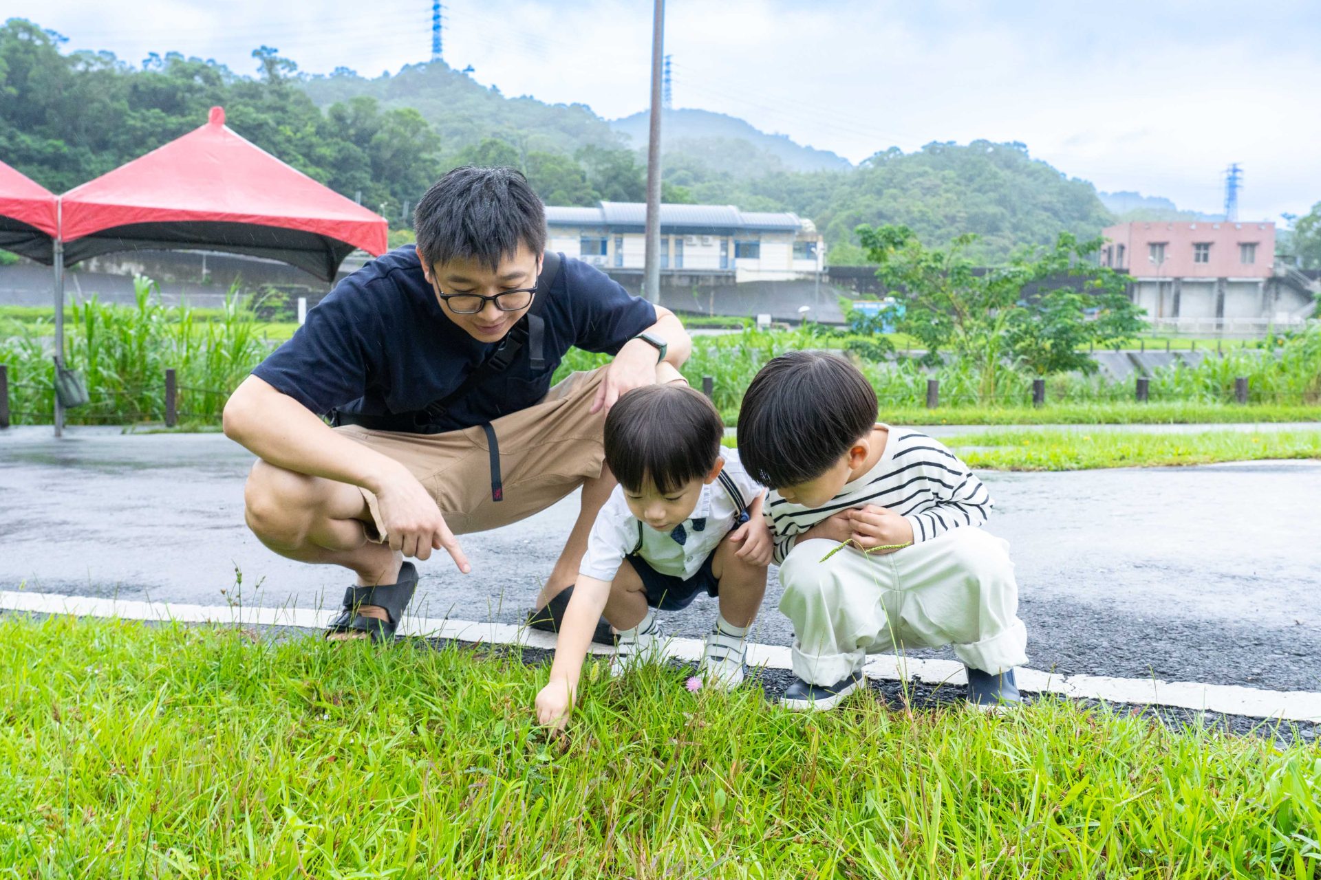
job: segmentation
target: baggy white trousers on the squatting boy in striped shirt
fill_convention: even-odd
[[[960,528],[885,555],[834,541],[799,542],[779,566],[779,610],[794,624],[794,674],[832,685],[867,654],[954,645],[968,666],[1028,662],[1009,542]]]

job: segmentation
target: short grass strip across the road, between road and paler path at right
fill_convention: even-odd
[[[1098,467],[1321,459],[1321,430],[1153,434],[1123,430],[992,430],[942,441],[970,467],[1086,471]]]

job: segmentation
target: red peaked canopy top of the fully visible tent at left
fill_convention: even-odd
[[[225,125],[225,110],[141,158],[69,190],[65,260],[206,248],[289,263],[322,281],[354,249],[386,251],[386,219]]]

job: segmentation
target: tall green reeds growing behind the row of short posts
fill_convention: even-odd
[[[160,305],[156,285],[135,282],[132,306],[95,298],[74,306],[65,327],[66,363],[87,379],[92,402],[71,410],[70,424],[160,421],[165,410],[165,369],[177,371],[180,416],[185,424],[214,424],[225,400],[277,344],[236,292],[225,307],[205,313]],[[11,409],[16,424],[52,418],[54,330],[49,321],[18,325],[0,338],[0,363],[9,367]],[[1032,400],[1033,376],[1004,364],[997,369],[996,396],[984,396],[976,364],[946,361],[935,369],[913,359],[885,356],[875,336],[856,336],[806,325],[794,330],[757,330],[723,336],[696,336],[683,373],[694,387],[715,379],[715,404],[733,417],[757,371],[775,355],[793,350],[844,351],[871,381],[882,408],[921,405],[926,383],[941,383],[942,408],[1021,406]],[[592,369],[606,355],[571,350],[556,379],[575,369]],[[1199,363],[1176,364],[1152,372],[1151,400],[1173,404],[1229,404],[1234,380],[1248,379],[1250,402],[1276,405],[1321,404],[1321,326],[1272,338],[1256,348],[1234,348],[1223,356],[1206,354]],[[1133,383],[1094,373],[1059,375],[1048,380],[1046,398],[1054,404],[1124,404],[1133,400]]]

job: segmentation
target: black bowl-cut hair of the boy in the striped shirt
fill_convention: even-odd
[[[876,425],[876,389],[839,355],[790,351],[761,368],[738,410],[738,459],[762,486],[815,480]]]

